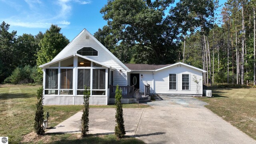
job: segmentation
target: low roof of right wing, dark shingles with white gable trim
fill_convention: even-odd
[[[190,68],[194,68],[196,70],[200,70],[202,72],[206,72],[205,70],[202,70],[200,68],[196,68],[194,66],[190,66],[188,64],[184,64],[182,62],[178,62],[178,63],[175,63],[175,64],[125,64],[130,70],[132,71],[159,71],[159,70],[163,70],[165,68],[170,68],[172,66],[176,66],[178,64],[182,64],[184,66],[188,66]]]

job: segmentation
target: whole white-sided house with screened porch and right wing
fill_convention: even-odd
[[[91,105],[114,103],[116,85],[122,89],[122,103],[133,103],[136,97],[147,102],[151,94],[202,96],[206,72],[182,62],[123,64],[86,29],[39,67],[44,71],[44,105],[83,104],[84,86]]]

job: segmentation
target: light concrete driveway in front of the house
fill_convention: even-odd
[[[149,144],[256,144],[192,97],[161,96],[152,107],[124,108],[126,135]],[[47,132],[79,133],[82,112]],[[90,108],[89,132],[114,134],[115,109]]]

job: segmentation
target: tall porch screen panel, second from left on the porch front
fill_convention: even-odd
[[[60,89],[73,88],[73,69],[60,69]]]

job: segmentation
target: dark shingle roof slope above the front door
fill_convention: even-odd
[[[125,64],[130,70],[157,70],[172,64]]]

